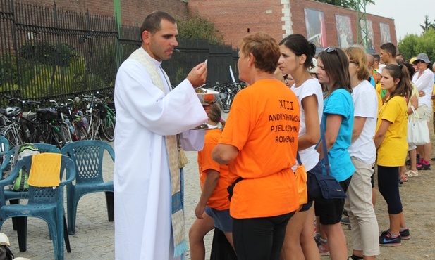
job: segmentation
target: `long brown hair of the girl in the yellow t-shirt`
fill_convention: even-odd
[[[384,70],[382,70],[382,72],[384,72],[385,70],[388,71],[388,74],[390,74],[393,80],[400,80],[396,86],[396,89],[391,92],[388,99],[391,99],[394,96],[410,97],[412,93],[412,86],[408,68],[403,65],[388,64],[384,67]]]

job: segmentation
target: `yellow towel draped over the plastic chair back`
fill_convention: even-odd
[[[62,155],[60,153],[46,152],[33,155],[27,183],[36,187],[59,186],[59,183],[61,183],[61,160]]]

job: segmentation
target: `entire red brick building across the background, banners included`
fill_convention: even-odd
[[[64,11],[89,11],[92,14],[112,16],[114,1],[121,0],[23,1],[39,6],[52,6],[56,3]],[[121,23],[140,25],[147,13],[155,10],[185,18],[188,9],[191,13],[197,12],[214,22],[217,29],[223,32],[225,43],[234,48],[243,36],[252,32],[267,32],[278,41],[288,34],[303,34],[320,48],[343,47],[343,41],[347,41],[345,46],[357,44],[358,40],[356,11],[312,0],[122,0]],[[320,22],[314,19],[316,15],[321,17]],[[372,25],[367,30],[369,49],[379,53],[379,46],[386,41],[397,45],[393,19],[370,14],[367,14],[366,19],[368,25]]]

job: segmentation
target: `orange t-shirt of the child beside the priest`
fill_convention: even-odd
[[[198,152],[198,166],[200,169],[200,184],[201,190],[204,186],[207,170],[213,169],[219,171],[219,181],[214,188],[212,195],[209,197],[207,206],[212,209],[223,210],[230,208],[228,200],[228,166],[218,164],[212,159],[212,150],[217,145],[221,137],[220,129],[208,130],[205,134],[204,148]]]

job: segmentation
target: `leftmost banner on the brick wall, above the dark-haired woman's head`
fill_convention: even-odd
[[[324,13],[310,8],[305,8],[304,13],[308,41],[312,41],[317,47],[327,47]]]

